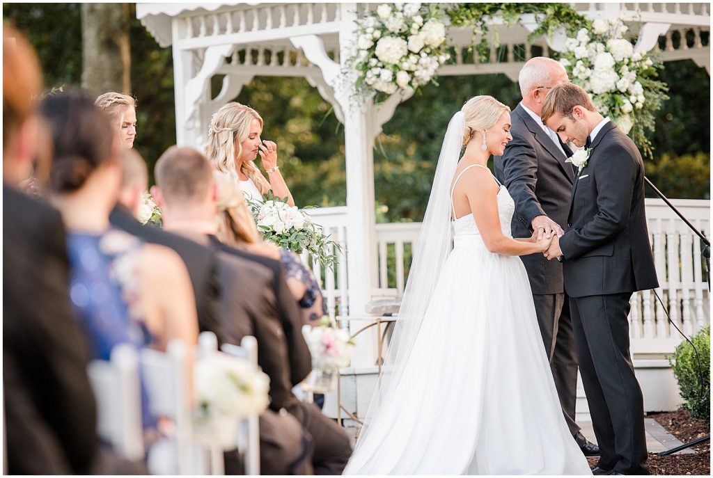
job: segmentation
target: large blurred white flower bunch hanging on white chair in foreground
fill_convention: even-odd
[[[259,415],[270,404],[268,390],[270,378],[247,360],[224,353],[201,358],[194,369],[195,435],[231,447],[238,421]]]

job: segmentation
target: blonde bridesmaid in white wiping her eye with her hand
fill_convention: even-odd
[[[265,194],[272,191],[277,197],[287,197],[287,204],[294,206],[292,194],[277,166],[277,145],[260,139],[262,126],[257,111],[235,101],[227,103],[210,120],[205,155],[217,170],[240,182],[246,197],[262,202]],[[257,155],[269,181],[255,165]]]

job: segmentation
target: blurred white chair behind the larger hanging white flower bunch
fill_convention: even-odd
[[[217,349],[217,339],[215,334],[210,332],[201,333],[199,343],[204,334],[212,335],[205,336],[205,346],[212,347],[210,350]],[[233,357],[247,360],[253,365],[257,365],[257,340],[253,336],[245,336],[240,341],[240,345],[232,343],[224,343],[220,347],[223,352],[232,355]],[[257,415],[247,417],[240,422],[237,437],[237,447],[245,456],[245,474],[260,474],[260,419]]]

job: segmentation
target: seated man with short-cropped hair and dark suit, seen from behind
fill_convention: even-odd
[[[232,339],[238,343],[241,333],[256,336],[258,363],[270,375],[271,409],[277,411],[284,408],[307,431],[312,442],[309,456],[315,474],[341,474],[352,452],[349,437],[339,425],[322,415],[314,404],[299,402],[292,393],[297,384],[292,377],[302,381],[309,373],[309,370],[301,370],[304,367],[299,364],[310,363],[311,358],[302,338],[301,326],[297,325],[301,321],[299,315],[294,314],[292,319],[295,324],[292,326],[292,338],[288,336],[287,321],[277,315],[279,309],[275,300],[279,303],[280,299],[272,287],[275,269],[261,265],[267,264],[263,262],[267,258],[257,256],[260,261],[251,259],[254,254],[237,251],[215,239],[217,191],[210,163],[198,151],[172,147],[156,163],[155,177],[157,187],[153,193],[163,209],[165,227],[187,237],[189,234],[190,237],[200,234],[204,240],[210,240],[217,252],[218,262],[224,268],[221,286],[226,294],[222,297],[225,312],[237,309],[249,311],[247,320],[240,319],[240,330],[236,323],[233,324],[235,335]],[[287,289],[286,285],[284,289]],[[289,291],[287,298],[296,307]],[[227,305],[229,303],[233,305]],[[232,317],[230,320],[234,320]],[[290,347],[290,341],[294,346]],[[261,349],[264,351],[261,352]]]

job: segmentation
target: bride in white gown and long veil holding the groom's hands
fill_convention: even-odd
[[[518,259],[552,239],[511,237],[513,199],[486,167],[513,139],[509,111],[476,96],[448,124],[384,373],[345,474],[591,474]]]

